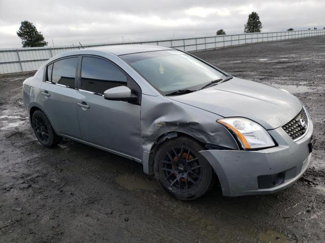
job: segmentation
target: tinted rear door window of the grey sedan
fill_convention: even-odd
[[[61,59],[53,63],[52,83],[75,88],[78,57]]]

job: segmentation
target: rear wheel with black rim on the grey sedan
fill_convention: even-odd
[[[36,110],[32,114],[31,127],[37,140],[45,147],[56,146],[62,140],[62,137],[56,135],[49,119],[41,110]]]

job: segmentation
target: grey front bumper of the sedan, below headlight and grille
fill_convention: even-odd
[[[311,119],[299,141],[292,140],[281,127],[269,133],[278,146],[257,151],[200,151],[218,175],[224,196],[273,193],[295,183],[307,170],[313,143]]]

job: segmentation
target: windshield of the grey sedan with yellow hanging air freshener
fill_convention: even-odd
[[[199,90],[225,74],[190,55],[177,51],[155,51],[120,56],[162,94]]]

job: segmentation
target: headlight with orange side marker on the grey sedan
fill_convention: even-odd
[[[269,133],[259,124],[243,117],[218,119],[231,130],[238,138],[244,149],[266,148],[275,146]]]

